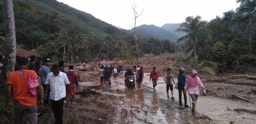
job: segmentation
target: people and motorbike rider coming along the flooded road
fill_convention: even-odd
[[[104,66],[106,65],[106,66]],[[108,64],[104,64],[101,63],[99,64],[100,66],[100,82],[101,82],[101,85],[104,83],[104,82],[108,82],[110,80],[110,77],[111,77],[111,74],[112,72],[113,73],[116,73],[116,68],[114,66],[114,70],[112,71],[111,68],[113,68],[110,65]],[[103,69],[104,68],[104,69]],[[125,88],[124,89],[129,89],[130,87],[133,87],[133,89],[135,89],[135,82],[136,82],[136,85],[141,88],[141,83],[142,83],[142,80],[143,80],[143,75],[144,75],[144,71],[143,71],[143,67],[142,66],[134,66],[134,71],[135,71],[135,74],[133,73],[133,68],[132,67],[129,67],[126,69],[126,72],[124,74],[124,78],[125,78]],[[188,90],[188,93],[189,93],[189,97],[191,97],[192,99],[192,109],[191,109],[191,112],[195,113],[195,107],[196,107],[196,101],[197,101],[197,98],[199,96],[199,89],[198,89],[198,86],[200,86],[201,88],[204,88],[200,78],[197,76],[197,72],[195,70],[193,70],[191,72],[191,75],[187,78],[186,80],[186,74],[185,74],[185,69],[184,67],[181,67],[180,70],[179,70],[179,74],[177,75],[177,79],[178,79],[178,82],[175,83],[174,81],[174,75],[171,73],[171,68],[167,68],[167,73],[163,76],[163,80],[164,82],[166,83],[166,93],[167,93],[167,97],[169,98],[169,90],[171,91],[171,99],[174,100],[175,97],[174,97],[174,85],[175,85],[175,88],[178,89],[178,96],[179,96],[179,105],[183,106],[182,104],[182,93],[183,93],[183,96],[184,96],[184,107],[189,107],[189,105],[187,104],[187,95],[186,95],[186,91]],[[133,80],[133,85],[130,85],[129,86],[129,78],[130,77],[136,77],[136,80]],[[116,76],[114,75],[114,78]],[[106,80],[107,78],[107,80]],[[150,72],[150,75],[149,75],[149,82],[151,82],[152,80],[152,84],[153,84],[153,91],[156,92],[156,86],[157,86],[157,81],[159,81],[159,74],[158,72],[156,71],[156,67],[153,67],[153,70]]]

